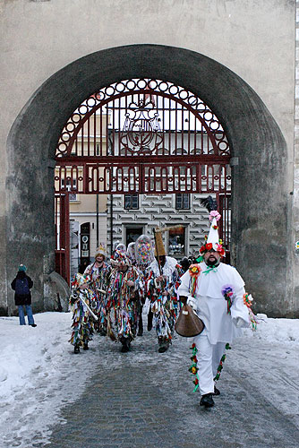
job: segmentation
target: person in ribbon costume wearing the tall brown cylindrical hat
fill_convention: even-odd
[[[162,240],[162,232],[173,228],[155,229],[155,257],[147,271],[147,297],[150,301],[150,312],[158,336],[158,352],[164,353],[169,348],[175,329],[178,314],[177,288],[183,274],[181,266],[175,258],[167,256]],[[148,320],[148,330],[151,330]]]

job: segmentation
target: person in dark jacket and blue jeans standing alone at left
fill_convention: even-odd
[[[14,304],[18,306],[20,325],[26,325],[24,306],[26,308],[28,324],[31,327],[36,327],[31,308],[31,293],[30,289],[33,287],[33,281],[29,275],[26,274],[27,268],[24,264],[20,264],[16,277],[12,281],[12,289],[14,290]]]

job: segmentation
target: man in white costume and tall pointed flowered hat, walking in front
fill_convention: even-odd
[[[213,396],[220,393],[214,381],[221,373],[225,349],[230,349],[229,343],[240,335],[239,327],[248,327],[252,319],[250,305],[244,304],[242,277],[233,266],[221,263],[225,250],[218,237],[217,203],[211,196],[201,203],[210,211],[209,237],[201,246],[199,263],[192,264],[181,278],[178,294],[204,323],[201,334],[193,339],[189,371],[195,375],[194,392],[197,388],[201,392],[201,406],[210,408],[214,406]]]

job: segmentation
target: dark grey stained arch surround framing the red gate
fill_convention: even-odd
[[[233,261],[259,310],[284,314],[286,142],[246,82],[215,60],[176,47],[132,45],[84,56],[49,78],[21,110],[7,144],[7,272],[20,257],[28,260],[37,279],[37,309],[43,309],[45,280],[54,268],[53,177],[59,134],[93,91],[134,77],[182,85],[221,120],[234,156]]]

